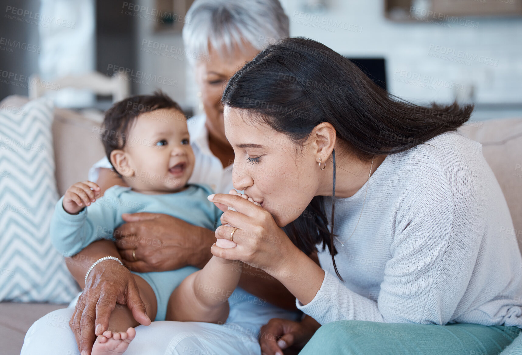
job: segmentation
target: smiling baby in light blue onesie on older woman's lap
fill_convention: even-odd
[[[211,230],[220,224],[220,211],[207,199],[211,189],[187,184],[194,153],[186,118],[168,96],[157,92],[114,104],[105,114],[102,141],[114,170],[129,187],[113,186],[101,198],[100,187],[91,181],[77,182],[66,191],[51,222],[53,245],[63,255],[75,255],[98,239],[112,239],[114,229],[123,224],[123,213],[166,213]],[[153,236],[151,243],[161,247]],[[222,247],[235,246],[224,243]],[[133,257],[139,260],[134,252]],[[238,285],[241,268],[213,256],[199,271],[187,266],[132,273],[151,319],[218,323],[228,317],[228,297]],[[218,289],[219,294],[205,291]],[[124,352],[138,324],[126,306],[116,307],[109,330],[98,335],[92,354]]]

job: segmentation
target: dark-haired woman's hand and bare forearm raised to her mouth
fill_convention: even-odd
[[[302,304],[314,299],[324,280],[324,270],[292,243],[267,210],[239,195],[217,193],[208,199],[224,211],[216,238],[230,240],[234,228],[239,228],[233,235],[237,246],[220,248],[215,243],[210,249],[213,255],[241,260],[267,272]]]

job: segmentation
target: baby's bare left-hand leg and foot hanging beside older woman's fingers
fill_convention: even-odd
[[[156,318],[158,305],[156,295],[150,285],[143,278],[134,275],[138,285],[139,295],[147,309],[150,319]],[[94,346],[92,355],[121,354],[127,350],[129,343],[136,336],[134,327],[139,323],[134,319],[131,310],[126,305],[116,304],[109,319],[109,329],[99,335]]]

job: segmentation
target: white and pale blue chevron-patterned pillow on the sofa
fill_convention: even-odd
[[[49,237],[52,121],[44,98],[0,110],[0,301],[67,303],[79,291]]]

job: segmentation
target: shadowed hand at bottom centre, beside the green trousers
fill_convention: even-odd
[[[272,318],[261,327],[259,345],[262,355],[282,355],[282,350],[292,347],[301,350],[321,325],[310,316],[301,322]]]

